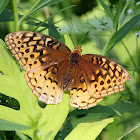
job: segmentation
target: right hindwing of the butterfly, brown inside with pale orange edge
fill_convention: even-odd
[[[76,71],[73,73],[76,78],[70,90],[70,105],[77,107],[78,109],[88,109],[96,106],[97,103],[103,99],[102,97],[94,98],[93,95],[90,94],[88,89],[88,79],[86,79],[83,72],[83,66],[81,64],[77,65]]]

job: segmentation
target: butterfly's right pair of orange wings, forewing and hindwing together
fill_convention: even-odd
[[[79,109],[96,106],[103,97],[125,90],[124,82],[131,80],[117,62],[94,54],[82,56],[75,77],[70,105]]]

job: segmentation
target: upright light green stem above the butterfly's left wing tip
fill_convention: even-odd
[[[17,2],[13,0],[13,11],[14,11],[14,22],[15,22],[15,31],[18,31],[18,12],[17,12]]]

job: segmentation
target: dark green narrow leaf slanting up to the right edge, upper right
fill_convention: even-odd
[[[136,25],[136,23],[140,22],[140,14],[131,18],[128,22],[126,22],[117,32],[117,36],[115,39],[115,44],[121,41]]]

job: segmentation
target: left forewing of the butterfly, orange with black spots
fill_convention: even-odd
[[[32,72],[56,64],[70,53],[65,44],[53,37],[30,31],[10,33],[5,42],[21,66]]]

